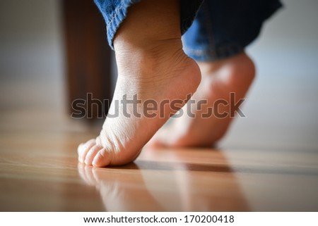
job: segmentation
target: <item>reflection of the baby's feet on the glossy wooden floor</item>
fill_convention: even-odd
[[[196,163],[209,157],[210,163]],[[249,210],[235,173],[216,150],[144,150],[136,163],[107,169],[79,164],[78,172],[98,189],[106,211]]]

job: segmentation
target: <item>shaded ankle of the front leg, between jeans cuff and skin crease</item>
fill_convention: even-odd
[[[169,39],[181,40],[179,0],[141,1],[129,8],[114,37],[114,49],[145,48]]]

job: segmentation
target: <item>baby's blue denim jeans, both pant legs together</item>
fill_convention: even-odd
[[[112,49],[114,35],[129,6],[139,1],[95,0],[105,18]],[[279,0],[180,0],[184,51],[196,61],[216,61],[239,54],[259,36],[264,21],[281,6]]]

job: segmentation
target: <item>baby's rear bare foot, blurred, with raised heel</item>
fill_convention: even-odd
[[[196,103],[206,100],[207,104],[202,104],[201,109],[198,109],[195,104],[192,105],[194,117],[186,114],[187,106],[184,106],[182,117],[175,118],[171,125],[162,127],[151,139],[149,145],[211,146],[228,130],[232,121],[230,104],[219,105],[218,109],[213,108],[213,111],[218,111],[222,116],[223,113],[228,113],[227,117],[218,117],[216,113],[209,118],[204,118],[202,115],[208,113],[207,108],[213,107],[218,100],[230,103],[230,93],[235,94],[235,103],[243,99],[254,79],[254,63],[245,53],[242,53],[222,61],[202,62],[199,63],[199,67],[202,74],[201,84],[192,96],[192,100]]]

